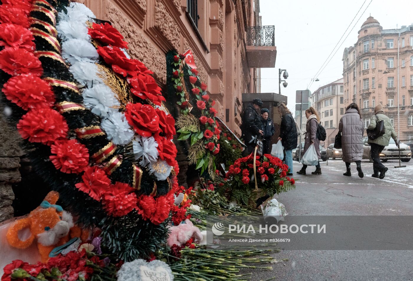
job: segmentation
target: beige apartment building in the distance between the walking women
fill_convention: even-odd
[[[319,87],[311,94],[310,102],[311,106],[317,110],[321,124],[327,133],[324,142],[324,147],[327,147],[334,143],[340,118],[345,112],[343,78]]]

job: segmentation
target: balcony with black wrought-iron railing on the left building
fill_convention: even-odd
[[[247,61],[250,68],[275,67],[277,47],[274,26],[247,27]]]

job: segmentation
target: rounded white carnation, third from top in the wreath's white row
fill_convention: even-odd
[[[62,44],[62,57],[70,64],[76,61],[96,62],[99,54],[91,43],[83,39],[69,39]]]

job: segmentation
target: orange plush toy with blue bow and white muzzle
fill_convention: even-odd
[[[58,199],[59,193],[50,191],[40,206],[31,211],[28,217],[14,222],[7,230],[9,244],[24,249],[33,243],[34,238],[37,238],[41,261],[47,262],[49,253],[55,247],[69,241],[69,231],[71,237],[81,237],[85,241],[88,236],[87,231],[74,226],[72,215],[64,211],[61,206],[55,205]]]

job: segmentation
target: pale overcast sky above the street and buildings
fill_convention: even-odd
[[[380,22],[383,29],[396,28],[397,25],[400,28],[413,23],[412,0],[372,0],[369,6],[370,0],[366,2],[364,0],[260,0],[259,2],[262,25],[275,26],[275,46],[277,46],[275,68],[261,68],[261,92],[278,93],[278,68],[287,69],[288,86],[284,88],[281,85],[281,94],[287,95],[289,109],[294,108],[295,91],[305,90],[311,83],[311,78],[320,79],[309,87],[311,92],[342,78],[344,48],[356,43],[358,31],[370,14]],[[363,2],[365,2],[363,7],[342,41],[356,24],[353,30],[327,67],[315,77]],[[366,12],[362,14],[365,9]]]

